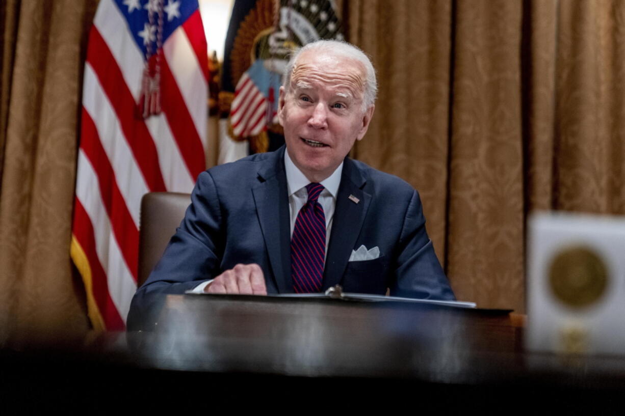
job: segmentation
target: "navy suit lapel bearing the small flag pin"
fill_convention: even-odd
[[[365,184],[364,174],[351,159],[345,159],[327,247],[322,290],[341,282],[371,203],[371,195],[362,191]],[[355,202],[356,199],[358,202]]]

